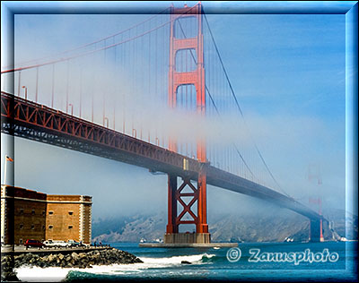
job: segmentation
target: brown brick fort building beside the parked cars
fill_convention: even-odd
[[[1,185],[1,243],[74,240],[91,243],[92,197],[39,193]]]

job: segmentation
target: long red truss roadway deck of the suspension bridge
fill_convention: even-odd
[[[4,92],[1,95],[1,116],[2,133],[126,162],[151,171],[189,177],[195,181],[200,168],[205,166],[207,184],[275,203],[311,220],[321,218],[302,203],[263,185]],[[188,160],[188,170],[183,169],[183,159]]]

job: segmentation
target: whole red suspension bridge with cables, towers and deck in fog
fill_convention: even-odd
[[[183,224],[210,242],[206,184],[300,213],[320,240],[322,216],[285,193],[258,149],[201,4],[1,74],[2,133],[168,174],[166,243],[188,241]]]

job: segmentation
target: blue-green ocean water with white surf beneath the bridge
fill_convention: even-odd
[[[22,267],[16,270],[17,276],[23,281],[37,282],[149,279],[350,282],[358,279],[357,242],[245,243],[239,244],[241,258],[238,251],[228,252],[230,248],[144,248],[137,243],[111,246],[135,254],[144,263],[92,269]],[[258,253],[257,257],[251,256],[252,253]],[[256,258],[258,261],[253,262]]]

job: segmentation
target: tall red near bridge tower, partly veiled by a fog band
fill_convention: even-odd
[[[192,38],[180,38],[179,24],[180,19],[195,18],[197,22],[197,35]],[[194,85],[196,89],[197,114],[206,115],[206,92],[205,92],[205,68],[204,68],[204,38],[202,30],[202,5],[196,4],[193,7],[185,5],[184,8],[171,7],[171,28],[170,28],[170,64],[169,64],[169,107],[175,108],[177,104],[178,89],[182,85]],[[177,30],[176,30],[177,29]],[[191,72],[176,71],[176,56],[180,50],[191,50],[197,55],[197,68]],[[169,149],[177,151],[177,142],[170,138]],[[206,163],[206,142],[197,141],[197,159]],[[180,243],[210,243],[208,225],[206,221],[206,170],[205,166],[198,173],[197,188],[191,183],[189,176],[181,176],[182,184],[178,186],[178,176],[168,176],[168,225],[164,236],[166,244]],[[182,193],[188,186],[191,193]],[[192,197],[186,204],[181,197]],[[192,206],[197,202],[197,213]],[[183,206],[183,210],[177,210],[178,203]],[[184,219],[189,214],[190,220]],[[196,234],[179,233],[180,224],[195,224]]]

